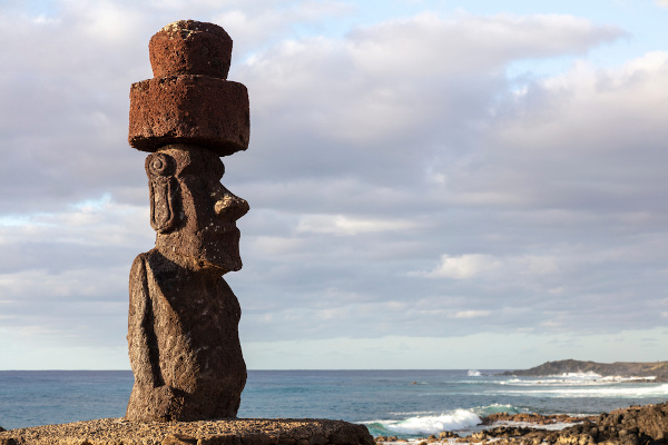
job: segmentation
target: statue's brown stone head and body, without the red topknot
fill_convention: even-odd
[[[238,300],[223,275],[242,267],[235,222],[248,204],[220,182],[210,150],[167,146],[146,160],[156,247],[130,271],[128,348],[140,422],[236,416],[246,382]]]

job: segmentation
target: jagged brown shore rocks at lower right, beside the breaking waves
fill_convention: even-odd
[[[562,429],[548,429],[546,425],[572,424]],[[598,416],[571,417],[566,415],[495,414],[482,419],[489,429],[470,436],[443,432],[420,445],[469,443],[497,445],[668,445],[668,403],[631,406]],[[495,426],[494,426],[495,425]],[[542,426],[542,427],[541,427]],[[376,444],[391,444],[397,437],[376,437]]]

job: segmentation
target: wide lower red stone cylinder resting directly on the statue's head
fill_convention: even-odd
[[[242,83],[208,76],[174,76],[132,83],[130,146],[156,151],[194,144],[218,156],[248,148],[248,92]]]

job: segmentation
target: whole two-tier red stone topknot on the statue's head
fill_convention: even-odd
[[[248,92],[227,81],[232,39],[217,24],[180,20],[149,43],[154,79],[130,88],[130,146],[195,144],[218,156],[248,148]]]

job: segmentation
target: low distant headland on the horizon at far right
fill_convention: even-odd
[[[668,362],[615,362],[597,363],[582,360],[547,362],[530,369],[509,370],[502,375],[547,377],[568,373],[595,373],[601,377],[639,378],[639,382],[668,382]]]

